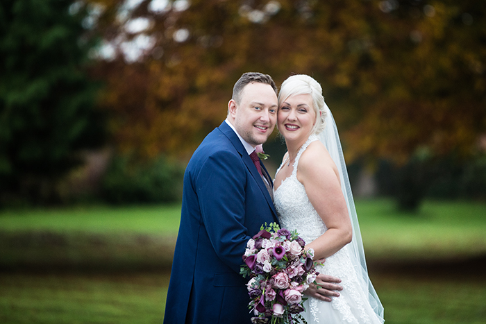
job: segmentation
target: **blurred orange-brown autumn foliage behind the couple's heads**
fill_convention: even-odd
[[[122,152],[190,155],[226,116],[245,71],[278,84],[290,74],[316,78],[348,160],[467,156],[486,133],[482,1],[89,3],[102,9],[92,30],[113,51],[93,74],[106,80],[101,105]],[[136,19],[146,28],[127,28]],[[127,55],[142,40],[145,50]]]

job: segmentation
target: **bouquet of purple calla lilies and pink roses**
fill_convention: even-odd
[[[246,287],[255,317],[251,323],[305,323],[303,291],[315,282],[318,273],[312,261],[314,251],[304,250],[305,242],[294,230],[277,223],[262,225],[246,244],[240,274],[250,277]],[[294,318],[292,318],[294,314]]]

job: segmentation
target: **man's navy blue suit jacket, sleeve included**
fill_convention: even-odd
[[[250,323],[242,255],[260,226],[275,221],[260,174],[233,129],[221,123],[185,170],[164,323]]]

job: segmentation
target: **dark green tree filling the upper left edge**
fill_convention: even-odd
[[[92,44],[71,5],[0,4],[0,204],[52,202],[81,150],[103,141],[99,87],[84,71]]]

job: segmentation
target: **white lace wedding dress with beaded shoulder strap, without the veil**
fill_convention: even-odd
[[[305,148],[315,140],[311,136],[299,150],[294,162],[292,176],[283,180],[274,191],[274,204],[278,213],[280,227],[297,230],[306,244],[326,232],[326,224],[310,203],[305,189],[297,180],[299,159]],[[280,171],[280,166],[277,170]],[[305,312],[301,313],[308,324],[313,323],[382,323],[371,308],[364,292],[358,284],[358,276],[349,258],[348,246],[326,258],[324,266],[317,266],[319,273],[341,278],[343,290],[332,302],[324,302],[310,297],[305,301]]]

